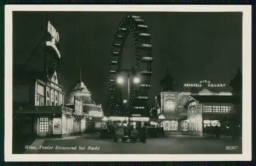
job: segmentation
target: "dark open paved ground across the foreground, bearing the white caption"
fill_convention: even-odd
[[[76,149],[56,150],[56,146],[76,147]],[[90,146],[94,150],[90,150]],[[238,149],[225,150],[226,146],[238,146]],[[42,150],[42,147],[48,149]],[[37,150],[30,151],[40,154],[239,154],[242,153],[242,142],[168,134],[161,138],[148,138],[145,144],[138,142],[114,143],[113,140],[100,140],[98,135],[87,134],[60,139],[46,139],[41,144],[41,149],[38,146]]]

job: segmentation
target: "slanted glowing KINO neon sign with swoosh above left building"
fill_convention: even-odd
[[[56,53],[58,54],[58,57],[60,58],[60,53],[56,46],[56,43],[59,42],[59,33],[56,31],[55,27],[51,24],[50,21],[48,21],[47,31],[51,35],[52,40],[47,41],[46,45],[51,46],[56,51]]]

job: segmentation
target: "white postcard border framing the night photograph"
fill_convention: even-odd
[[[242,154],[12,154],[12,12],[152,11],[243,12]],[[6,161],[242,161],[251,160],[251,6],[250,5],[6,5],[5,6],[5,160]]]

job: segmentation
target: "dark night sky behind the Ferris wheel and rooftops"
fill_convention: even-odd
[[[48,12],[49,14],[49,12]],[[53,24],[60,34],[62,86],[68,92],[80,77],[97,103],[106,103],[107,72],[111,44],[119,21],[127,14],[139,15],[152,35],[152,89],[150,105],[161,91],[167,61],[177,80],[177,90],[184,82],[203,78],[226,85],[238,66],[242,69],[242,13],[234,12],[54,12]],[[23,64],[44,36],[46,12],[13,13],[13,54],[16,64]],[[122,66],[134,64],[132,37],[125,43]],[[37,67],[43,68],[44,44],[36,50]],[[131,68],[131,67],[130,67]],[[230,91],[226,87],[225,91]],[[185,91],[189,91],[185,89]]]

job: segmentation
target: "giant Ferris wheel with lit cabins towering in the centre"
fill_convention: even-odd
[[[109,70],[108,70],[108,93],[111,114],[122,115],[124,110],[121,88],[116,84],[118,73],[121,69],[121,57],[124,43],[132,34],[135,41],[135,67],[133,74],[139,76],[139,85],[132,83],[130,94],[130,110],[133,113],[145,113],[147,108],[147,92],[151,88],[150,77],[152,75],[151,64],[151,34],[148,33],[147,25],[140,16],[128,15],[124,17],[117,27],[111,47]]]

